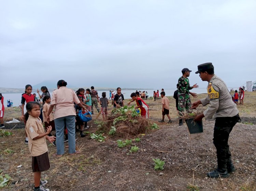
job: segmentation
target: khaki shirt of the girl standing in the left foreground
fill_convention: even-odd
[[[33,157],[44,154],[48,151],[45,136],[33,140],[33,138],[44,133],[44,127],[40,118],[29,115],[26,123],[26,132],[28,134],[28,149]]]

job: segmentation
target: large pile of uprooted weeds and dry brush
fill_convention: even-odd
[[[99,125],[98,132],[129,139],[148,133],[150,126],[150,122],[142,118],[133,106],[124,106],[113,109],[108,120]]]

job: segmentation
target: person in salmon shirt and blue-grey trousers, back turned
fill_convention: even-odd
[[[64,127],[67,125],[68,130],[68,144],[69,155],[79,154],[80,151],[75,150],[75,108],[74,103],[82,107],[83,111],[86,110],[82,103],[79,101],[77,95],[72,89],[68,89],[67,82],[59,80],[56,90],[52,93],[51,105],[47,114],[47,122],[49,121],[49,115],[55,107],[54,123],[56,129],[56,147],[57,153],[52,156],[61,157],[64,154]]]

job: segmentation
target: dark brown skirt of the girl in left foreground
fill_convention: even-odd
[[[32,171],[33,172],[43,172],[50,168],[50,162],[48,157],[48,152],[45,152],[39,156],[32,156]]]

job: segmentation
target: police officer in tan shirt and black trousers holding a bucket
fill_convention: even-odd
[[[198,100],[192,104],[195,109],[199,104],[203,106],[210,104],[201,115],[197,115],[195,121],[201,121],[202,118],[215,119],[213,144],[217,151],[218,167],[212,172],[207,173],[211,178],[229,177],[230,172],[234,172],[234,167],[229,151],[228,137],[233,126],[241,121],[236,104],[228,91],[226,84],[214,74],[212,63],[198,65],[198,71],[202,81],[208,82],[208,97]]]

